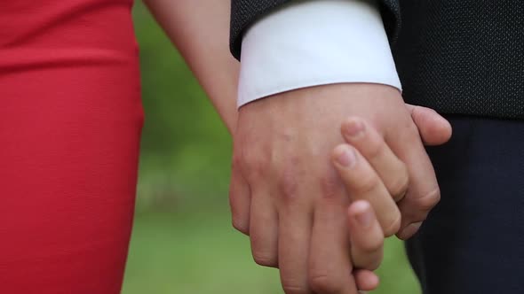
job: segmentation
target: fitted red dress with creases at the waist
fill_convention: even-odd
[[[118,293],[143,112],[131,0],[0,0],[0,293]]]

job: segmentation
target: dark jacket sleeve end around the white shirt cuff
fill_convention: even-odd
[[[400,0],[378,1],[380,2],[385,32],[390,43],[393,43],[401,27]],[[242,35],[245,30],[257,19],[263,18],[266,14],[290,2],[291,0],[232,0],[229,45],[234,58],[240,60]]]

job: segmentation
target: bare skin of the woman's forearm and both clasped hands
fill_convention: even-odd
[[[234,134],[232,218],[235,228],[250,235],[258,264],[279,267],[287,293],[371,290],[370,270],[381,260],[377,226],[358,230],[352,215],[365,205],[350,204],[369,203],[377,211],[382,238],[415,234],[439,197],[421,138],[444,143],[449,123],[429,109],[404,104],[395,89],[373,84],[290,91],[237,112],[239,64],[228,50],[229,1],[146,2]],[[368,141],[346,138],[339,129],[348,117],[377,133],[367,133]],[[373,143],[383,144],[385,155],[369,154],[366,145]],[[341,148],[353,150],[358,159],[351,171],[337,163]],[[388,168],[398,176],[388,176]],[[374,193],[352,182],[350,174],[357,170],[378,177],[364,187]],[[351,251],[349,239],[356,244]],[[331,274],[335,271],[341,274]]]

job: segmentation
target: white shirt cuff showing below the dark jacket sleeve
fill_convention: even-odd
[[[377,4],[295,1],[242,39],[238,106],[292,89],[341,82],[401,89]]]

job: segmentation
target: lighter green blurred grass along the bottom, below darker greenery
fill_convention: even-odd
[[[419,293],[401,249],[388,240],[374,293]],[[124,294],[278,294],[278,271],[258,267],[249,239],[229,226],[226,209],[141,213],[136,221]]]

